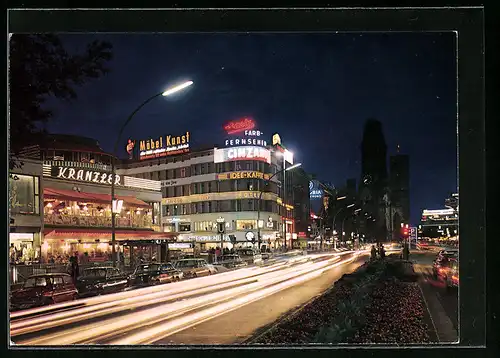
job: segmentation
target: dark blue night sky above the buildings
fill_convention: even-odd
[[[142,101],[183,80],[127,127],[147,139],[192,132],[193,144],[222,144],[222,124],[253,117],[279,132],[304,168],[342,186],[359,181],[360,143],[369,117],[383,124],[388,154],[410,155],[412,223],[456,191],[456,62],[453,33],[71,34],[69,51],[107,40],[111,72],[51,101],[48,129],[96,138],[112,151],[117,128]],[[122,155],[125,154],[122,149]]]

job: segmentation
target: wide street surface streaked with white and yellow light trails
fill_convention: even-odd
[[[320,294],[367,259],[296,256],[264,267],[11,313],[18,345],[235,344]]]

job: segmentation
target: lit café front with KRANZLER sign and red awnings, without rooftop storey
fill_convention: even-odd
[[[116,250],[124,264],[136,256],[161,258],[161,243],[172,235],[161,232],[159,182],[115,175],[104,169],[80,169],[74,163],[43,166],[44,239],[41,257],[64,261],[78,253],[83,262],[110,260],[111,181],[115,183]],[[156,229],[156,231],[155,231]],[[155,240],[160,240],[157,244]],[[129,242],[133,241],[133,245]],[[142,244],[139,244],[142,242]],[[166,242],[166,241],[165,241]],[[145,247],[146,253],[143,253]]]

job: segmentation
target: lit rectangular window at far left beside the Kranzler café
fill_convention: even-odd
[[[39,214],[40,187],[38,177],[12,174],[9,177],[9,202],[12,214]]]

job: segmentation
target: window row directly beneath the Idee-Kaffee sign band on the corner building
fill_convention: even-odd
[[[280,187],[275,182],[268,182],[258,179],[235,179],[235,180],[213,180],[209,182],[192,183],[163,187],[162,197],[175,198],[194,194],[207,193],[227,193],[232,191],[266,191],[280,194]]]

